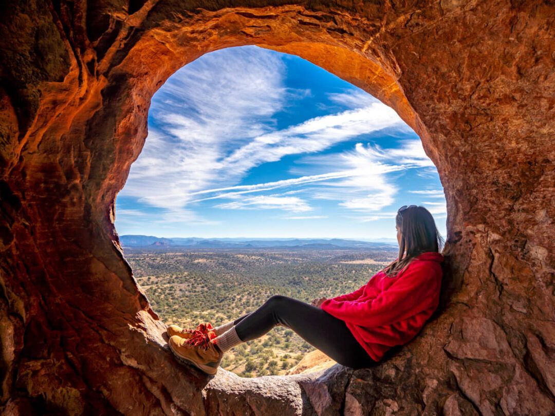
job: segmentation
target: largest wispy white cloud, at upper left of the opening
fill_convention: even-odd
[[[284,72],[260,48],[219,50],[179,70],[153,99],[149,136],[120,194],[173,215],[184,210],[191,192],[221,181],[223,156],[275,129],[273,114],[297,93]]]

